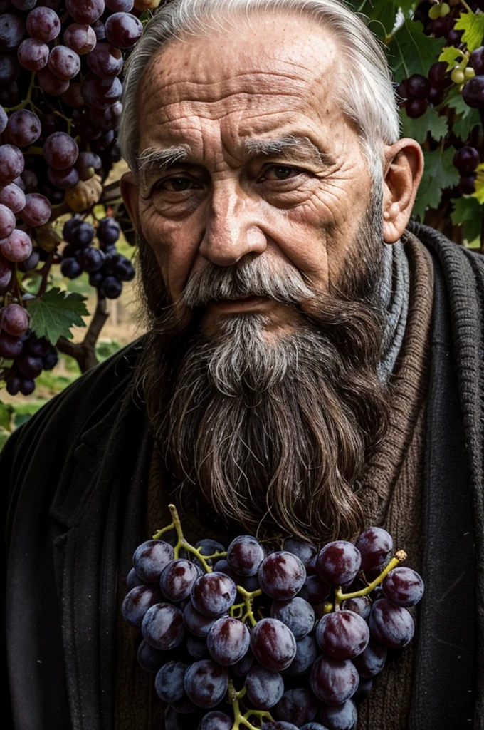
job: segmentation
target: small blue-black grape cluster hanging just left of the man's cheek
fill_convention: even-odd
[[[77,216],[63,227],[61,272],[68,279],[76,279],[82,272],[89,274],[89,283],[108,299],[117,299],[122,292],[122,282],[131,281],[135,271],[129,258],[116,250],[121,229],[114,218],[99,221],[96,229]],[[94,237],[98,246],[94,245]]]

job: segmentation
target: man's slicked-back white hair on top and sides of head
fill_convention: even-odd
[[[397,98],[386,55],[360,15],[343,0],[170,0],[144,27],[127,64],[119,132],[122,154],[137,171],[138,85],[150,59],[171,41],[210,36],[236,17],[292,12],[332,33],[341,72],[334,82],[337,104],[354,123],[372,181],[383,172],[383,145],[400,137]],[[321,45],[321,53],[324,47]]]

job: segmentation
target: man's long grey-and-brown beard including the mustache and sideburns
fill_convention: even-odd
[[[254,256],[206,264],[173,304],[140,240],[150,334],[138,385],[179,488],[203,496],[227,525],[317,543],[362,529],[359,489],[389,415],[377,377],[379,200],[326,295],[294,268],[267,269]],[[268,339],[266,315],[250,312],[205,326],[208,301],[248,293],[284,302],[294,326]]]

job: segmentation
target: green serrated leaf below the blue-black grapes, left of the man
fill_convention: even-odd
[[[47,337],[52,345],[59,337],[72,339],[71,327],[85,327],[82,317],[89,314],[85,299],[81,294],[68,294],[58,287],[50,289],[40,299],[29,299],[27,308],[36,336]]]

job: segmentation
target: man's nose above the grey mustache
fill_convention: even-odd
[[[246,253],[262,253],[267,238],[261,228],[260,201],[233,181],[214,185],[200,254],[218,266],[232,266]]]

